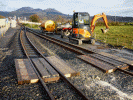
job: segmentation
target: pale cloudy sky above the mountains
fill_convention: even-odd
[[[0,0],[0,11],[15,11],[21,7],[54,8],[69,15],[75,10],[91,16],[105,12],[106,15],[133,17],[133,0]]]

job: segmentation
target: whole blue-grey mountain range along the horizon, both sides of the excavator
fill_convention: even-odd
[[[37,14],[40,16],[41,19],[54,19],[55,17],[58,17],[58,15],[60,15],[62,18],[65,18],[65,19],[71,19],[72,18],[72,15],[69,15],[69,18],[68,18],[68,15],[67,14],[63,14],[61,13],[60,11],[57,11],[56,9],[54,8],[48,8],[48,9],[45,9],[45,10],[42,10],[42,9],[33,9],[31,7],[22,7],[20,9],[17,9],[16,11],[12,11],[12,12],[3,12],[3,11],[0,11],[0,15],[2,16],[5,16],[5,17],[13,17],[14,15],[17,16],[17,17],[27,17],[27,19],[29,18],[30,15],[33,15],[33,14]],[[91,16],[91,19],[93,18],[93,16]],[[110,21],[123,21],[123,22],[129,22],[129,21],[133,21],[133,17],[120,17],[120,16],[109,16],[107,15],[107,19],[110,20]],[[100,19],[102,20],[102,18]]]

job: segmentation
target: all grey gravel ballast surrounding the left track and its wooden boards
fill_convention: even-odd
[[[17,28],[14,32],[17,31]],[[8,31],[7,34],[12,34]],[[17,31],[16,38],[8,50],[1,50],[2,54],[1,66],[0,66],[0,96],[2,100],[12,99],[36,99],[46,100],[47,95],[45,90],[42,89],[40,83],[36,84],[17,84],[17,75],[15,70],[14,59],[25,58],[21,47],[17,46],[17,37],[19,31]],[[70,81],[77,85],[88,97],[94,100],[132,100],[133,99],[133,77],[120,71],[115,71],[110,74],[105,74],[101,70],[85,63],[78,59],[77,54],[70,52],[56,44],[49,41],[40,39],[30,34],[31,39],[34,39],[36,45],[43,45],[42,52],[45,56],[56,55],[63,59],[67,64],[80,72],[80,76],[69,78]],[[37,41],[36,41],[37,40]],[[39,43],[38,43],[39,41]],[[18,43],[19,44],[19,43]],[[6,45],[4,45],[6,48]],[[38,46],[39,48],[39,46]],[[19,50],[18,50],[19,49]],[[19,52],[18,52],[18,51]],[[16,53],[18,52],[18,53]],[[111,51],[107,51],[111,52]],[[119,52],[119,51],[118,51]],[[126,54],[124,54],[126,56]],[[126,58],[126,57],[125,57]],[[132,55],[131,55],[132,60]],[[50,91],[57,100],[79,100],[75,98],[77,96],[74,92],[71,92],[71,88],[60,80],[58,85],[51,83],[47,84]],[[60,88],[59,88],[60,87]],[[56,90],[56,91],[55,91]],[[74,96],[70,96],[72,95]]]

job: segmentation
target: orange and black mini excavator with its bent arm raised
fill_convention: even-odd
[[[102,32],[107,32],[109,29],[108,21],[105,13],[94,15],[90,25],[90,15],[87,12],[74,12],[72,21],[72,30],[69,32],[69,41],[77,41],[78,44],[82,44],[82,41],[90,41],[91,44],[95,44],[95,39],[92,38],[96,20],[103,18],[106,29],[101,29]],[[67,31],[67,30],[66,30]],[[61,38],[65,36],[65,32],[61,34]]]

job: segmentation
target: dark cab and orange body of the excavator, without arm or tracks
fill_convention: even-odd
[[[91,37],[90,15],[87,12],[75,12],[73,14],[72,37],[88,39]]]

